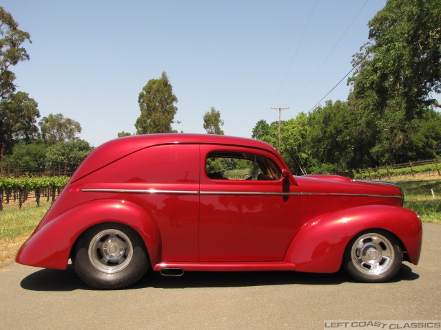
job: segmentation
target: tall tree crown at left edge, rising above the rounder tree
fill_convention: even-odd
[[[12,15],[0,6],[0,101],[15,91],[15,74],[10,67],[29,60],[28,53],[21,45],[25,41],[32,41],[28,32],[19,30],[18,26]]]

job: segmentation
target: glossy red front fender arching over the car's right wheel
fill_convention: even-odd
[[[409,260],[418,264],[422,224],[418,215],[398,206],[360,206],[324,214],[309,221],[291,241],[285,262],[298,272],[338,272],[349,241],[363,230],[379,228],[400,239]]]

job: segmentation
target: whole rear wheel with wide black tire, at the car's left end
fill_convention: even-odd
[[[101,223],[83,232],[75,244],[72,264],[79,278],[96,289],[128,287],[150,267],[139,234],[120,223]]]

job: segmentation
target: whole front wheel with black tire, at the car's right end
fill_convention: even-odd
[[[396,276],[401,268],[402,248],[395,236],[384,230],[366,230],[351,239],[343,266],[356,280],[381,283]]]

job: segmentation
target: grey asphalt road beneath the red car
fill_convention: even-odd
[[[390,283],[345,272],[147,274],[96,291],[72,269],[0,268],[0,329],[323,329],[324,320],[440,320],[441,225],[425,223],[420,264]]]

